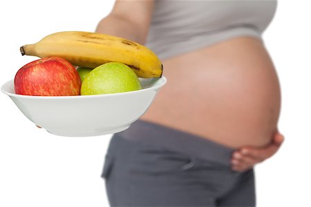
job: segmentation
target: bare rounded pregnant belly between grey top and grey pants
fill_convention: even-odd
[[[270,142],[281,95],[260,40],[231,39],[163,65],[167,85],[142,119],[233,148]]]

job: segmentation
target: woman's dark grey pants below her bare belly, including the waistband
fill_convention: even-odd
[[[102,177],[111,206],[255,206],[254,171],[233,149],[145,121],[113,135]]]

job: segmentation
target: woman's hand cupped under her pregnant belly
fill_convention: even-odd
[[[284,136],[276,132],[271,144],[264,147],[245,146],[236,150],[232,155],[232,170],[243,172],[255,164],[272,157],[284,141]]]

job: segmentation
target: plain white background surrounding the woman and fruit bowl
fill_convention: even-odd
[[[4,3],[5,2],[5,3]],[[35,57],[19,47],[62,30],[94,31],[113,1],[1,1],[2,85]],[[264,34],[282,88],[281,150],[256,166],[258,206],[311,206],[311,32],[308,1],[279,1]],[[212,9],[212,8],[211,8]],[[109,206],[100,178],[111,135],[57,137],[0,94],[0,206]]]

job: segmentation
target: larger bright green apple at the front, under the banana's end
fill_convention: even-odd
[[[109,62],[94,68],[84,79],[81,95],[100,95],[140,90],[140,80],[133,70],[123,63]]]

